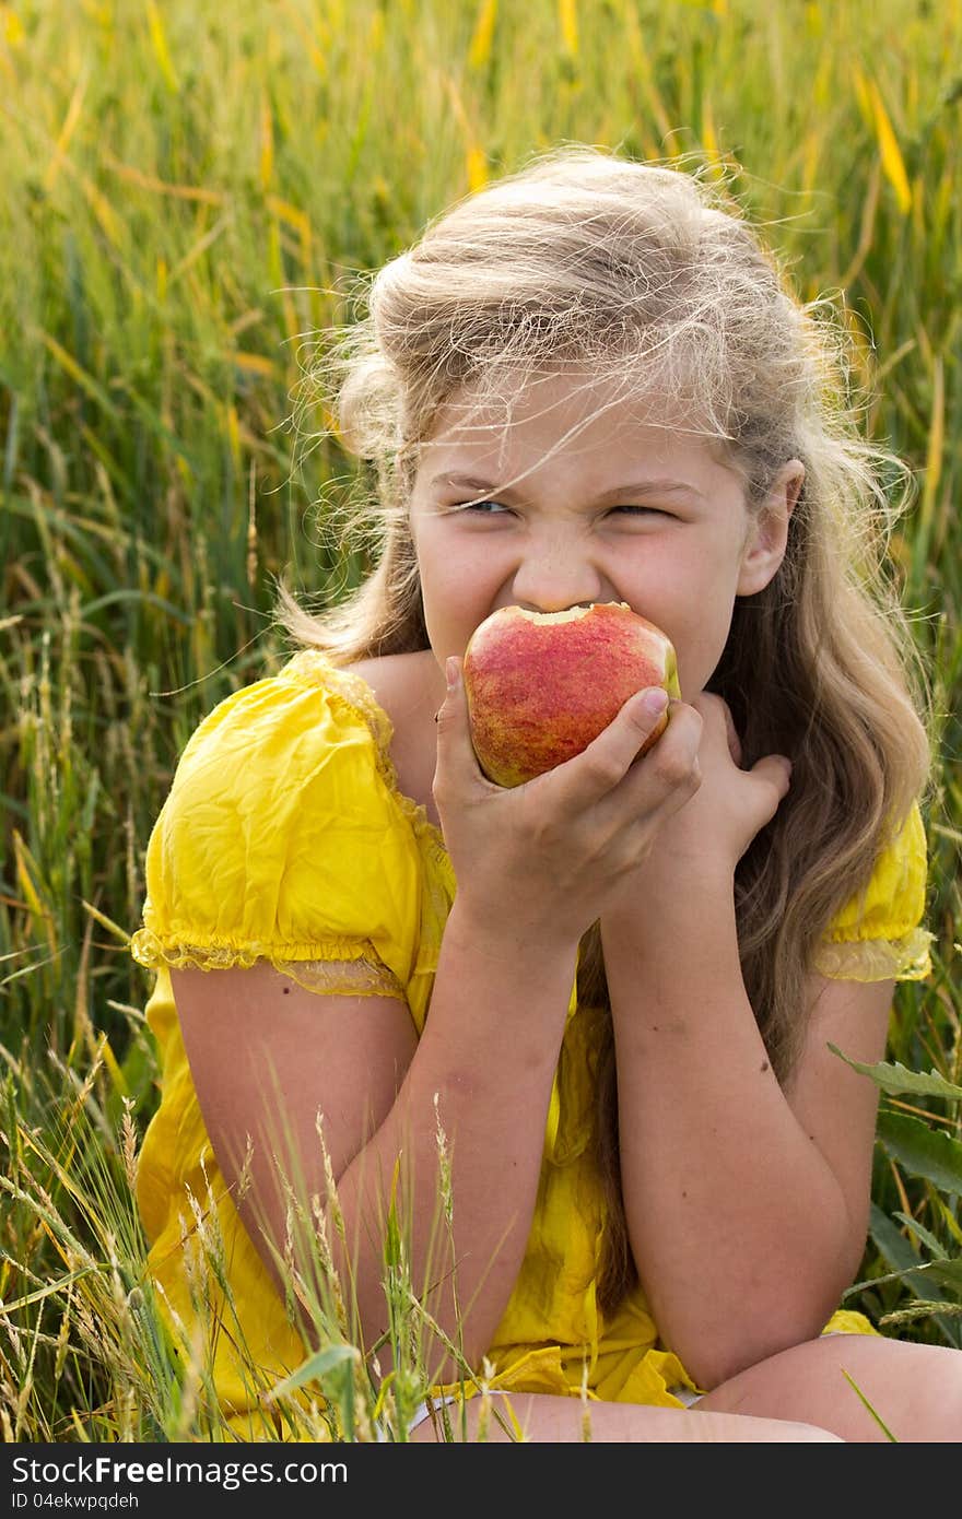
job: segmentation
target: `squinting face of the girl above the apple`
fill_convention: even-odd
[[[502,606],[628,602],[675,644],[682,697],[702,691],[736,595],[763,589],[781,564],[802,475],[792,460],[751,512],[710,441],[564,375],[529,386],[506,427],[494,409],[451,403],[410,501],[439,665]]]

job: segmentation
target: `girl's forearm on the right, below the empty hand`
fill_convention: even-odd
[[[663,1340],[713,1385],[819,1332],[848,1281],[851,1221],[772,1074],[731,876],[657,902],[647,921],[602,921],[625,1209]]]

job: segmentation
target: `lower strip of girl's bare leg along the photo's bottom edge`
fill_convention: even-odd
[[[511,1413],[508,1411],[511,1410]],[[640,1404],[590,1402],[556,1397],[549,1393],[492,1394],[485,1407],[480,1396],[465,1404],[462,1422],[457,1404],[447,1408],[456,1442],[526,1440],[532,1443],[696,1442],[701,1445],[795,1443],[821,1440],[839,1443],[827,1429],[786,1419],[758,1419],[742,1414],[699,1413],[687,1408],[647,1408]],[[514,1416],[514,1417],[512,1417]],[[479,1428],[480,1425],[480,1428]],[[464,1434],[462,1434],[464,1428]],[[410,1434],[412,1440],[444,1440],[441,1416],[430,1416]]]

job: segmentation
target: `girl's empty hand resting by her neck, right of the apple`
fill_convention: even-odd
[[[734,875],[752,838],[772,820],[789,791],[792,763],[786,755],[766,755],[751,770],[742,769],[742,743],[720,696],[702,691],[691,699],[691,706],[702,720],[696,763],[701,785],[664,820],[657,860],[652,858],[650,869],[644,870],[646,886],[652,873],[664,880],[670,873],[711,867]]]

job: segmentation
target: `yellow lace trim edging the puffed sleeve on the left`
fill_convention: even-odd
[[[406,1001],[397,975],[378,958],[371,945],[339,940],[318,945],[164,945],[149,928],[131,939],[131,954],[149,971],[167,966],[175,971],[249,971],[266,960],[307,992],[327,996],[395,996]]]

